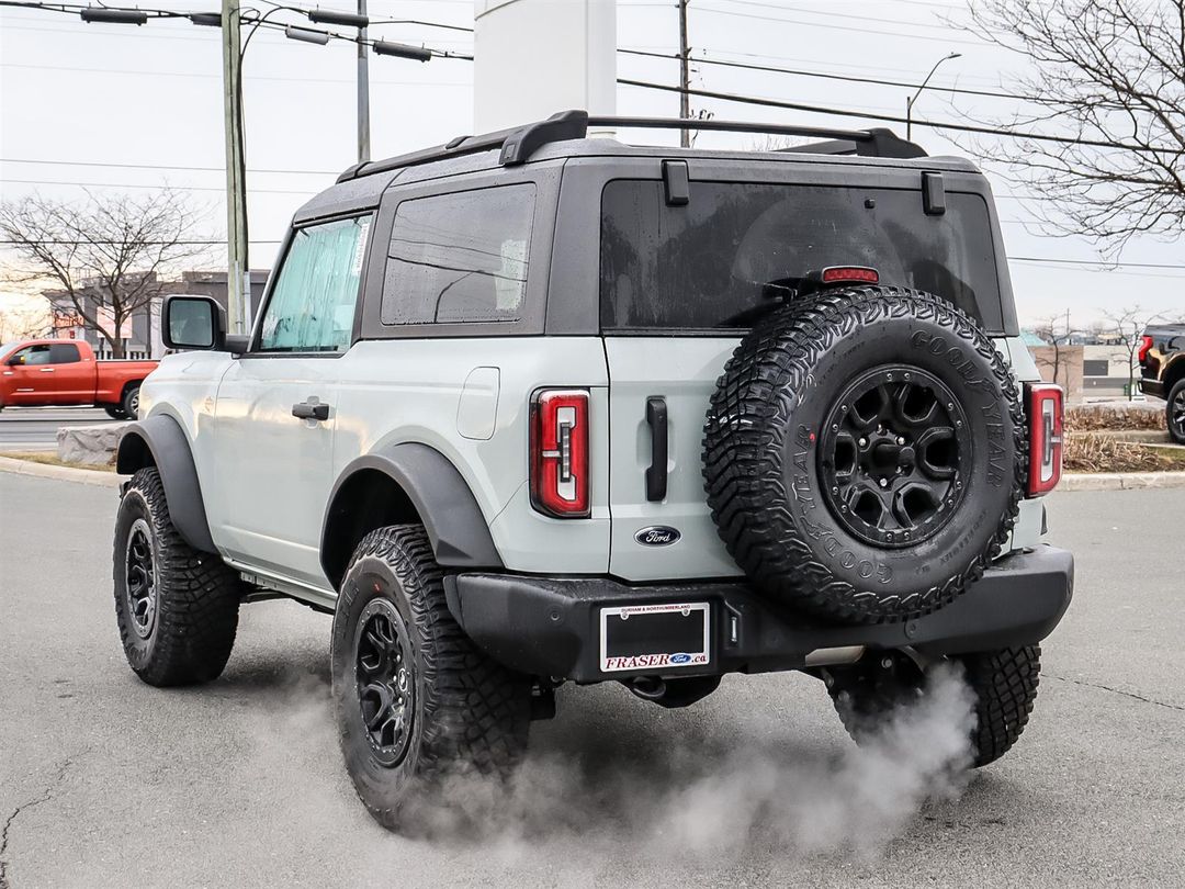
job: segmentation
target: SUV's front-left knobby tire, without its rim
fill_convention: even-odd
[[[154,618],[141,629],[128,591],[128,544],[137,519],[148,529],[155,574]],[[136,676],[149,685],[171,686],[210,682],[222,673],[235,646],[243,586],[220,557],[181,539],[155,468],[137,471],[120,500],[114,580],[115,619]]]

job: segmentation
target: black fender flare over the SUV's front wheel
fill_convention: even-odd
[[[181,539],[196,550],[217,554],[190,440],[180,423],[167,414],[129,423],[120,436],[115,471],[130,475],[148,466],[155,466],[160,473],[168,514]]]

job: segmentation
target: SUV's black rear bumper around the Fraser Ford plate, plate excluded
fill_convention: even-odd
[[[941,610],[869,626],[834,626],[787,612],[742,582],[629,586],[608,577],[461,574],[447,578],[446,590],[449,610],[479,646],[533,676],[600,682],[758,673],[801,669],[812,652],[847,646],[956,654],[1038,642],[1070,605],[1074,556],[1050,546],[1008,556]],[[704,601],[711,603],[707,667],[601,671],[600,608]]]

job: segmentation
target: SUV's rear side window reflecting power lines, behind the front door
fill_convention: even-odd
[[[399,204],[383,324],[517,321],[533,218],[529,183]]]

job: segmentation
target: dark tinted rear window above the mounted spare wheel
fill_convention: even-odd
[[[768,284],[827,266],[871,266],[880,282],[943,296],[1001,328],[987,204],[947,192],[927,216],[921,191],[692,183],[667,206],[656,180],[615,180],[601,200],[604,331],[711,331],[748,321]]]

